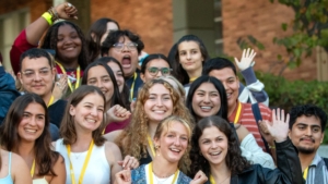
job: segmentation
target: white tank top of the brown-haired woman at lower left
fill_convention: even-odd
[[[56,151],[58,151],[65,159],[66,167],[66,184],[71,184],[70,161],[74,170],[75,183],[79,183],[79,177],[82,171],[84,160],[87,151],[71,152],[69,158],[66,145],[62,144],[62,138],[56,142]],[[94,145],[87,167],[83,176],[82,184],[108,184],[110,183],[110,167],[105,155],[105,145]]]

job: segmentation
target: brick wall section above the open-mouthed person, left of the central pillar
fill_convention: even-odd
[[[149,53],[167,54],[173,45],[172,0],[92,0],[91,22],[104,16],[139,34]]]

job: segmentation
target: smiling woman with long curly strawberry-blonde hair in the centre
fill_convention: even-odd
[[[180,98],[178,91],[164,79],[145,83],[138,94],[129,126],[124,131],[106,134],[105,137],[115,140],[124,155],[136,157],[140,164],[150,163],[155,155],[151,137],[154,137],[162,120],[178,115],[192,126],[192,119]]]

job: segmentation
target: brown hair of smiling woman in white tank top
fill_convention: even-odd
[[[65,114],[60,124],[60,136],[62,137],[63,145],[72,145],[78,139],[75,123],[74,123],[74,116],[70,114],[70,107],[77,107],[85,96],[90,94],[97,94],[104,99],[104,109],[106,109],[106,99],[102,90],[95,86],[86,86],[82,85],[77,90],[74,90],[69,98],[69,101],[67,102],[67,107],[65,110]],[[106,127],[106,123],[104,122],[104,115],[103,115],[103,122],[99,125],[98,128],[92,132],[92,138],[94,140],[94,144],[96,146],[102,146],[105,143],[105,138],[103,137],[103,130]]]

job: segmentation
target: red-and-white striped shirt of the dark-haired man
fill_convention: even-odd
[[[229,121],[243,124],[254,135],[258,146],[260,146],[263,150],[266,150],[265,143],[261,138],[261,134],[259,133],[256,120],[253,114],[251,105],[243,103],[243,102],[241,105],[242,105],[242,110],[241,110],[239,120],[237,122],[234,122],[238,109],[238,105],[237,105],[234,112],[229,116]],[[271,110],[261,103],[259,103],[259,109],[261,112],[262,120],[268,120],[272,122]]]

